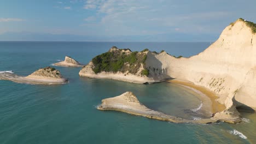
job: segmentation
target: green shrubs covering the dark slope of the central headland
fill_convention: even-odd
[[[101,73],[101,71],[114,72],[118,71],[125,73],[129,71],[131,74],[136,74],[143,66],[146,70],[145,62],[147,59],[147,53],[143,52],[131,52],[129,49],[117,49],[112,47],[108,52],[102,53],[92,59],[94,73]],[[143,71],[141,75],[148,76],[146,71]]]

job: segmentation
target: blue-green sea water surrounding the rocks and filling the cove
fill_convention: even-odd
[[[112,46],[190,57],[211,43],[0,42],[0,73],[26,76],[71,56],[87,64]],[[0,81],[0,143],[256,143],[256,114],[238,124],[176,124],[116,111],[100,111],[104,98],[135,93],[144,105],[196,119],[201,101],[190,89],[161,82],[139,85],[79,77],[80,68],[55,67],[65,85]],[[195,112],[194,112],[195,111]]]

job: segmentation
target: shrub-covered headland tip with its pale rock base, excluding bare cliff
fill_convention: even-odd
[[[108,52],[98,55],[80,70],[80,76],[97,79],[114,79],[132,83],[154,83],[170,78],[167,75],[150,75],[146,68],[148,50],[132,52],[113,46]]]

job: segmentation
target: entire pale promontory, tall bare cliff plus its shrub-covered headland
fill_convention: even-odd
[[[241,122],[237,107],[256,110],[255,33],[255,23],[238,19],[230,23],[205,51],[189,58],[174,57],[165,51],[144,50],[136,52],[135,63],[120,63],[119,57],[108,58],[104,55],[127,57],[132,52],[112,47],[102,54],[103,57],[100,55],[92,59],[79,74],[136,83],[153,83],[170,78],[184,85],[189,83],[214,93],[218,103],[225,106],[225,110],[214,113],[214,118],[229,123]],[[111,54],[115,52],[118,53]],[[139,60],[141,57],[142,60]],[[109,69],[115,64],[120,65],[114,70]]]

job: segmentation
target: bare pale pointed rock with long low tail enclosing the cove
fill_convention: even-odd
[[[183,119],[175,116],[166,115],[165,113],[148,109],[148,107],[139,103],[137,97],[132,92],[126,92],[114,98],[102,100],[102,104],[97,107],[98,110],[113,110],[130,113],[131,115],[143,116],[161,121],[173,123],[213,123],[217,122],[216,118],[205,118],[197,120]]]

